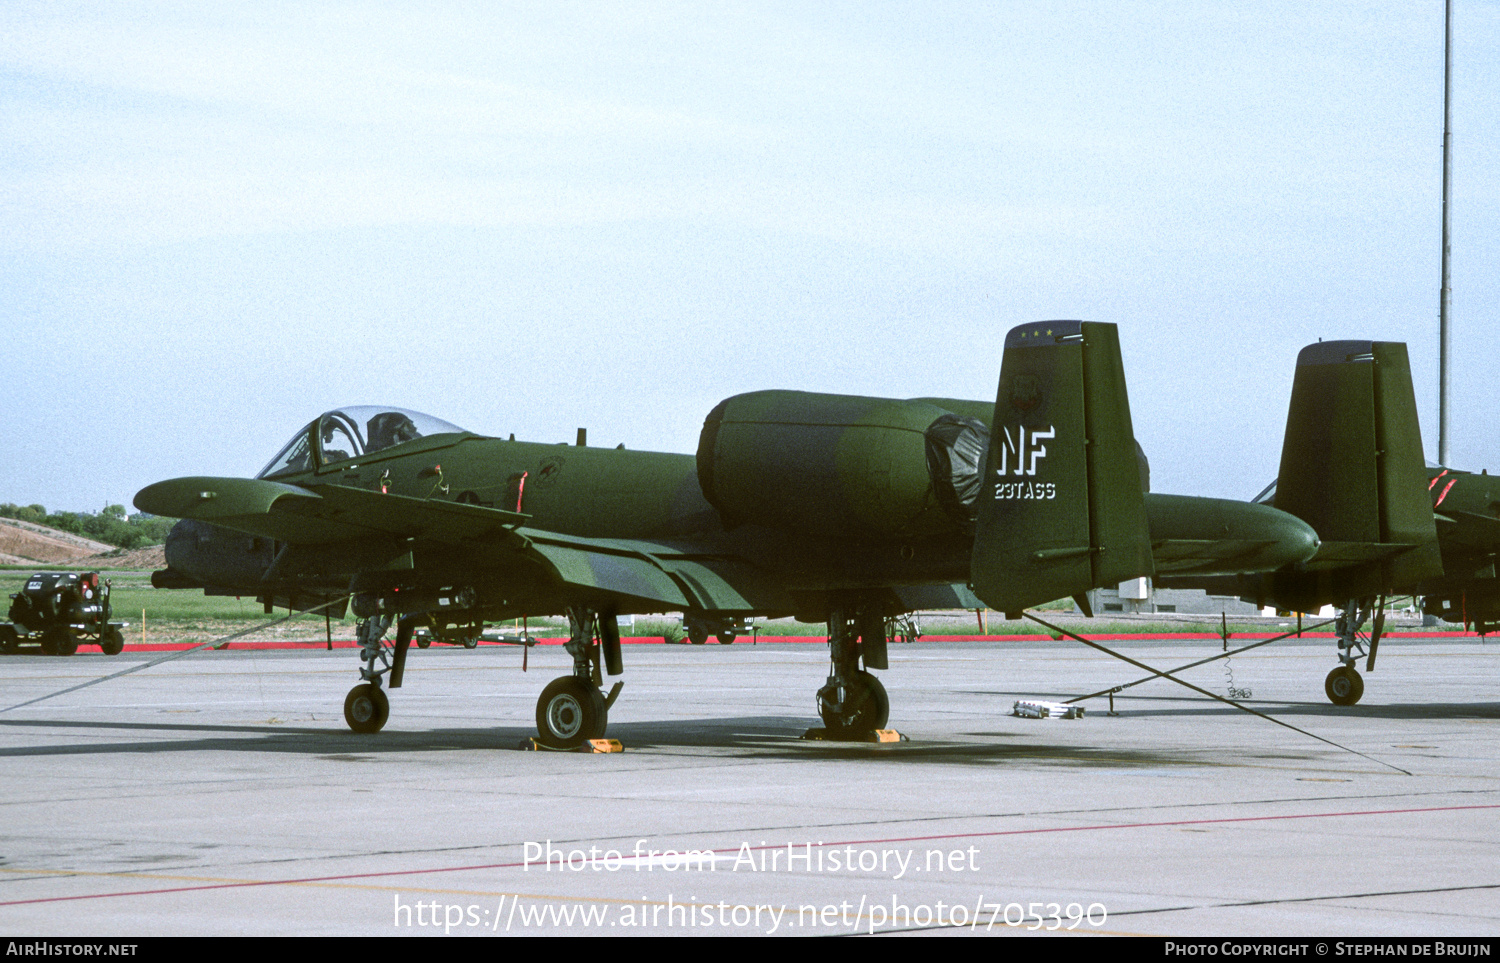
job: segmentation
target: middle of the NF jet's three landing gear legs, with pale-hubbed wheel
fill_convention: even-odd
[[[549,748],[578,748],[588,740],[603,738],[609,706],[624,684],[615,682],[608,696],[598,688],[603,682],[600,663],[609,675],[624,670],[615,614],[572,608],[567,621],[570,638],[566,648],[573,657],[573,675],[552,680],[537,699],[537,735]]]

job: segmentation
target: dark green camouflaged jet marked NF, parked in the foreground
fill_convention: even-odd
[[[566,614],[573,672],[537,702],[540,740],[560,748],[604,734],[616,615],[826,621],[818,711],[854,738],[888,720],[870,672],[888,666],[885,620],[924,592],[968,586],[1018,614],[1158,566],[1272,572],[1317,549],[1266,506],[1148,496],[1118,333],[1080,321],[1011,330],[994,405],[753,392],[710,412],[696,456],[342,408],[255,478],[160,482],[135,504],[183,519],[158,586],[255,594],[267,610],[352,598],[357,732],[387,722],[382,682],[400,687],[418,624],[477,638],[484,622]]]

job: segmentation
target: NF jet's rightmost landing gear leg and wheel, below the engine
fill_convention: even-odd
[[[891,699],[866,669],[886,668],[885,615],[874,606],[828,614],[828,681],[818,690],[824,738],[864,740],[884,729]],[[861,660],[864,669],[860,668]]]

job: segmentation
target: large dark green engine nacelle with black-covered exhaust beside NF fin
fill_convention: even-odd
[[[698,478],[729,528],[848,537],[969,530],[988,429],[920,400],[752,392],[704,422]]]

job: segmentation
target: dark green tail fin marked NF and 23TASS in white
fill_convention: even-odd
[[[1152,573],[1114,326],[1012,328],[975,519],[975,594],[1018,612]]]

